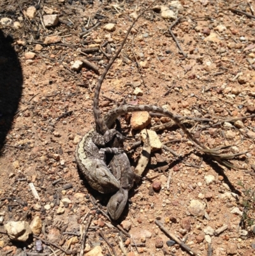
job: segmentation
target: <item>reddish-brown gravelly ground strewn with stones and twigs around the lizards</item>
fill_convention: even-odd
[[[164,146],[120,222],[105,215],[108,197],[78,176],[74,151],[94,122],[98,74],[150,3],[1,1],[1,255],[77,255],[82,241],[84,255],[184,255],[173,237],[197,255],[254,255],[254,1],[157,1],[132,29],[100,101],[104,113],[123,100],[163,106],[206,146],[249,151],[231,160],[245,170],[211,162],[182,130],[162,126],[168,118],[151,115]],[[121,123],[135,167],[142,147],[132,146],[139,131],[130,117]],[[38,216],[34,240],[6,236],[6,223],[31,227]]]

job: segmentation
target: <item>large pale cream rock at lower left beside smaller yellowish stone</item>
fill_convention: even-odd
[[[28,222],[8,222],[4,225],[8,236],[11,240],[25,242],[32,233]]]

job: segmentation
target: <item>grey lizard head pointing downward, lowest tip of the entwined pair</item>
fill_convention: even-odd
[[[120,217],[127,201],[128,190],[124,190],[123,188],[120,188],[120,190],[110,198],[107,204],[107,211],[113,220],[117,220]]]

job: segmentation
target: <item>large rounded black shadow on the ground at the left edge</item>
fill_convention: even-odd
[[[22,94],[22,68],[10,35],[0,29],[0,151]]]

